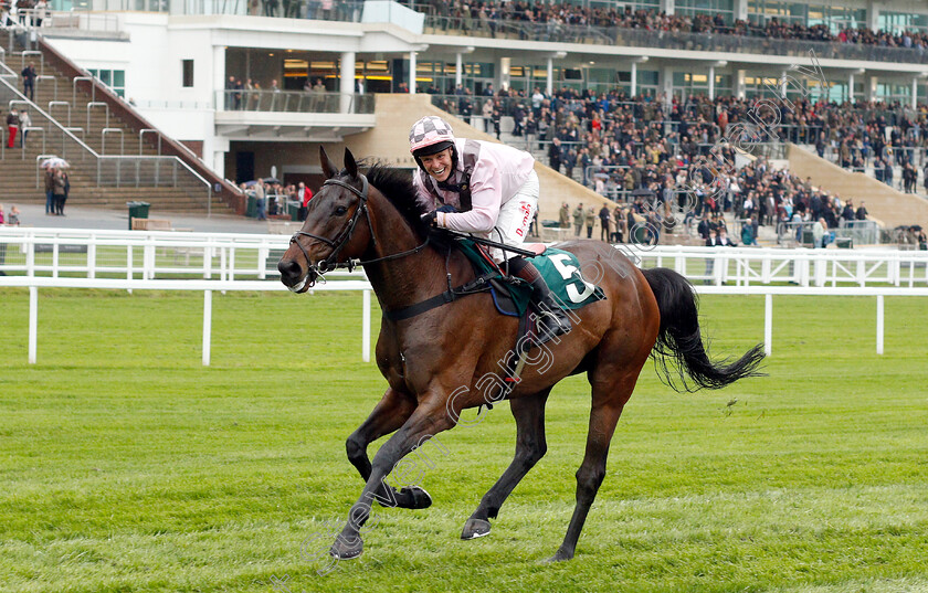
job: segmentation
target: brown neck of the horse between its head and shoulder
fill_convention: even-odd
[[[371,201],[375,241],[365,260],[388,257],[422,244],[402,214],[386,198]],[[447,289],[445,255],[426,245],[416,253],[365,266],[382,307],[397,310]]]

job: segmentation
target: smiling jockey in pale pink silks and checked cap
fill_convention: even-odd
[[[409,148],[419,165],[413,174],[419,202],[429,211],[423,220],[521,245],[538,210],[538,176],[531,155],[495,142],[455,139],[447,121],[433,115],[412,126]],[[506,257],[499,248],[491,250],[491,255],[496,263]],[[531,262],[516,256],[507,264],[514,276],[531,286],[531,298],[541,313],[539,333],[547,339],[570,331],[570,318]]]

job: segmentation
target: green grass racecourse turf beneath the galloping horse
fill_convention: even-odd
[[[458,536],[510,460],[505,404],[442,435],[432,508],[377,510],[326,575],[300,542],[357,498],[345,437],[384,388],[360,295],[215,294],[209,368],[200,294],[40,290],[35,366],[28,293],[0,303],[0,591],[928,591],[924,298],[887,298],[883,357],[874,298],[776,297],[769,377],[677,394],[648,363],[570,562],[539,561],[573,509],[582,378],[488,538]],[[761,339],[761,297],[702,314],[718,354]]]

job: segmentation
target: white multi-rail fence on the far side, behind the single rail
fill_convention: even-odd
[[[0,227],[0,271],[127,279],[275,278],[288,236]],[[4,250],[6,246],[6,250]],[[928,252],[620,245],[643,267],[715,286],[928,286]]]

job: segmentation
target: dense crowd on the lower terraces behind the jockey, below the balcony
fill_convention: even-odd
[[[439,89],[432,86],[426,92]],[[729,127],[736,124],[755,130],[749,138],[737,138],[749,150],[779,140],[808,145],[842,167],[872,168],[876,179],[890,184],[895,163],[903,170],[901,187],[910,192],[917,189],[916,168],[928,166],[926,104],[913,109],[899,103],[795,98],[781,102],[779,114],[769,114],[769,126],[759,127],[750,117],[757,113],[757,100],[690,95],[667,103],[663,96],[629,97],[618,89],[597,95],[567,87],[549,96],[539,88],[528,94],[496,93],[492,85],[484,96],[458,86],[453,95],[434,98],[497,138],[502,116],[512,116],[513,136],[524,138],[525,146],[552,169],[620,200],[636,189],[654,189],[662,180],[685,178],[694,159],[736,139],[730,138],[735,128]],[[734,162],[732,149],[725,150],[725,161]]]

